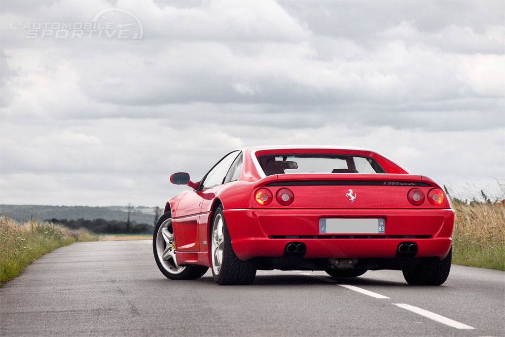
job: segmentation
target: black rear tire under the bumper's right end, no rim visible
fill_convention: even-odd
[[[443,260],[425,261],[403,270],[403,277],[411,285],[440,285],[449,276],[452,247]]]

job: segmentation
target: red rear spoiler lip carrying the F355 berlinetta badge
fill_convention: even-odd
[[[311,186],[311,185],[376,185],[376,186],[433,186],[433,180],[413,174],[360,174],[360,173],[310,173],[276,174],[259,180],[260,186]]]

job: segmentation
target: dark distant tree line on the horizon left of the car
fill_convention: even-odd
[[[118,220],[105,220],[105,219],[94,219],[85,220],[83,218],[77,220],[67,220],[67,219],[47,219],[44,221],[53,222],[57,224],[64,225],[70,229],[86,228],[93,233],[104,233],[104,234],[121,234],[121,233],[132,233],[132,234],[147,234],[153,232],[153,226],[146,223],[136,223],[135,221],[118,221]]]

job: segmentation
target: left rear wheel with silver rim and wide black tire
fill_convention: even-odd
[[[219,285],[251,284],[254,281],[256,262],[253,259],[242,261],[235,255],[222,207],[214,213],[210,242],[212,275]]]

